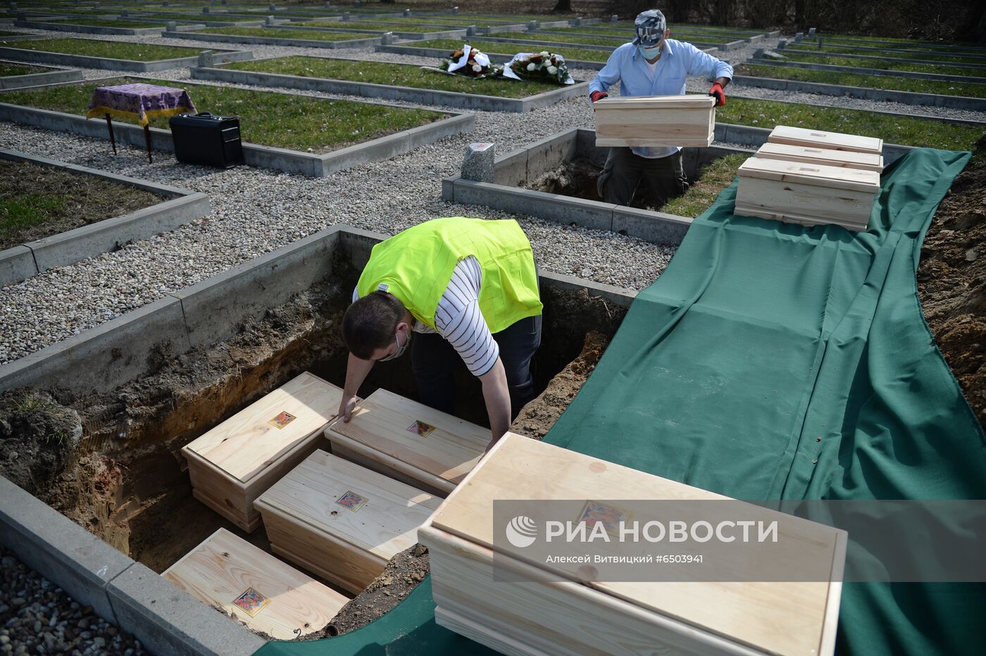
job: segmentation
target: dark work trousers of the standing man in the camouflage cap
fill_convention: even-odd
[[[642,158],[629,148],[610,148],[597,178],[599,196],[607,203],[660,208],[688,188],[681,151],[666,158]]]

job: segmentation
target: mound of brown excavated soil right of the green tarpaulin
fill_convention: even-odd
[[[986,157],[981,150],[938,208],[921,248],[917,280],[925,320],[986,428]]]

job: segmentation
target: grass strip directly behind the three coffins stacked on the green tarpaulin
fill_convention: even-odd
[[[971,151],[982,129],[974,125],[928,121],[909,116],[878,114],[862,109],[818,107],[810,104],[732,97],[716,109],[716,121],[753,127],[793,125],[864,137],[888,144]]]

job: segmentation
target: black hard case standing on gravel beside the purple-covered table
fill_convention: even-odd
[[[172,116],[168,124],[178,162],[220,168],[244,163],[239,118],[215,116],[206,111]]]

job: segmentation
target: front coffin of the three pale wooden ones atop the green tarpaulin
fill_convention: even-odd
[[[736,214],[805,226],[866,230],[880,173],[750,158],[739,169]]]

